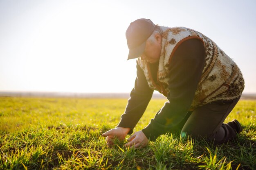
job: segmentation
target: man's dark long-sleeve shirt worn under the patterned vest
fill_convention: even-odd
[[[142,129],[150,140],[155,140],[159,135],[171,130],[186,116],[193,101],[195,91],[202,75],[205,63],[204,45],[198,39],[184,41],[175,51],[170,63],[170,81],[168,102],[151,119],[148,126]],[[156,82],[158,63],[150,64],[150,71]],[[130,93],[130,99],[118,126],[135,127],[143,115],[153,90],[148,87],[143,70],[137,65],[137,78],[135,87]]]

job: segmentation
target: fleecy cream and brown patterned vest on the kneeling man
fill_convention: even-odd
[[[137,64],[144,71],[151,89],[167,96],[169,93],[170,62],[175,50],[188,39],[199,39],[204,43],[206,63],[190,110],[216,100],[238,98],[242,94],[244,79],[240,69],[211,39],[198,31],[185,27],[168,28],[161,26],[161,28],[163,30],[162,51],[159,58],[157,82],[153,80],[148,62],[141,60],[140,57],[137,59]]]

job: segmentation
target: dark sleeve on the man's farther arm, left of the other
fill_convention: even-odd
[[[117,127],[129,127],[131,130],[128,134],[132,134],[133,128],[146,110],[152,94],[153,90],[148,87],[144,72],[137,64],[135,85],[130,93],[128,104]]]

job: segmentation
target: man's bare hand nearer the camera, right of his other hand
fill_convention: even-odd
[[[128,143],[125,146],[133,146],[135,148],[143,148],[148,144],[148,138],[142,131],[135,132],[129,139]]]

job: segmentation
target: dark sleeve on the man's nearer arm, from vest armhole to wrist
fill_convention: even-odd
[[[164,104],[143,133],[150,140],[179,124],[193,101],[205,63],[204,44],[198,39],[184,41],[175,51],[170,64],[170,81]]]

